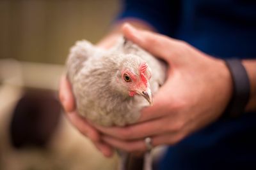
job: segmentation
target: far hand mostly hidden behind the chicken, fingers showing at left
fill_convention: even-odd
[[[118,27],[121,27],[121,25],[116,25],[115,31],[111,32],[108,34],[108,36],[103,38],[99,43],[97,43],[97,46],[99,48],[109,49],[115,45],[116,41],[120,38],[120,31],[118,31]],[[71,124],[74,125],[74,127],[76,127],[76,129],[81,132],[81,134],[91,139],[93,144],[106,157],[111,157],[111,155],[113,155],[113,148],[101,140],[100,132],[95,129],[95,127],[93,127],[93,125],[91,125],[90,122],[86,120],[86,118],[81,117],[77,113],[75,98],[67,76],[61,77],[59,98]]]

